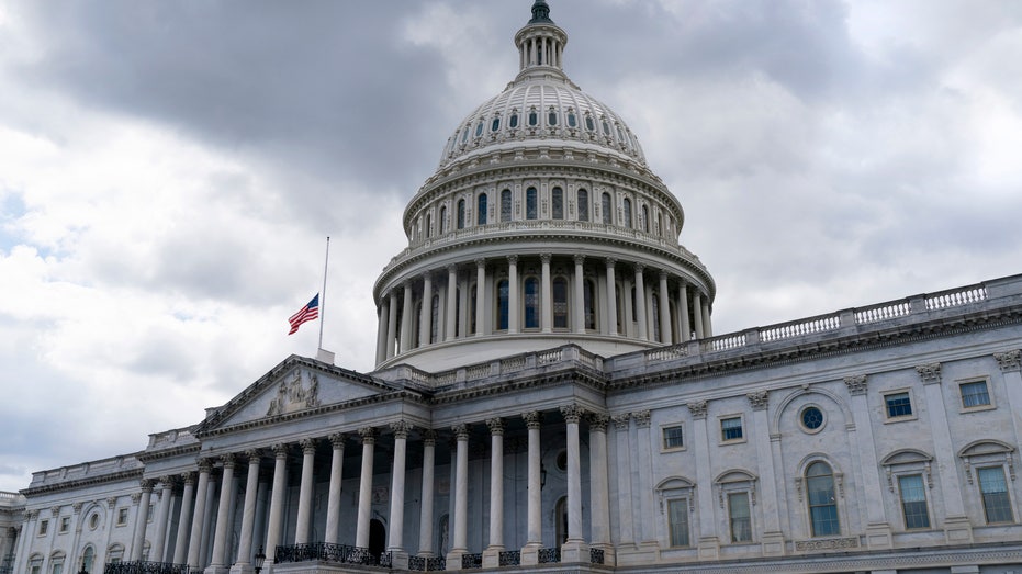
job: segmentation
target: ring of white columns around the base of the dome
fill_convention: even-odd
[[[618,273],[618,265],[583,255],[510,255],[409,278],[381,295],[377,364],[494,334],[591,334],[664,345],[712,336],[709,297],[698,285],[638,262]]]

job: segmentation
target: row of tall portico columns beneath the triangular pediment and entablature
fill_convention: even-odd
[[[568,520],[566,541],[561,545],[564,561],[588,561],[588,549],[600,548],[605,552],[611,551],[610,542],[610,509],[608,493],[608,464],[607,464],[607,424],[609,417],[586,413],[582,407],[570,404],[559,408],[563,418],[563,432],[566,436],[566,497]],[[520,415],[521,421],[528,431],[528,510],[527,510],[527,540],[521,551],[523,564],[536,564],[539,561],[539,550],[543,548],[542,529],[542,442],[540,438],[543,426],[543,414],[528,412]],[[587,539],[583,532],[582,520],[582,441],[580,426],[585,420],[589,428],[589,484],[591,500],[588,503],[592,522],[591,537]],[[496,567],[499,555],[508,550],[504,536],[505,497],[504,487],[504,434],[509,419],[490,418],[474,424],[459,424],[450,429],[451,461],[453,484],[450,491],[453,509],[450,517],[450,551],[447,556],[448,570],[460,570],[461,556],[468,553],[481,553],[483,565]],[[482,548],[470,548],[469,542],[469,452],[473,428],[485,424],[488,430],[490,443],[490,475],[488,475],[488,517],[490,528],[487,538]],[[520,428],[520,427],[519,427]],[[326,542],[332,544],[348,544],[358,548],[370,547],[370,521],[373,513],[373,454],[375,444],[381,436],[393,440],[393,461],[389,477],[390,500],[388,515],[388,537],[385,550],[391,552],[395,567],[407,567],[407,560],[412,549],[416,555],[431,558],[435,555],[434,541],[436,517],[436,444],[438,434],[433,429],[420,429],[416,438],[420,440],[422,448],[422,484],[419,516],[408,517],[418,520],[418,540],[405,540],[405,533],[414,528],[405,528],[405,492],[408,473],[408,440],[416,429],[407,420],[396,420],[385,428],[360,428],[352,435],[333,434],[328,437],[307,438],[299,443],[301,447],[301,463],[291,461],[291,444],[274,444],[266,450],[273,454],[272,476],[269,479],[270,494],[268,503],[257,500],[259,493],[266,493],[266,482],[260,481],[265,449],[251,449],[239,453],[225,453],[217,459],[203,458],[199,460],[198,471],[188,472],[180,476],[164,476],[158,481],[146,479],[141,482],[141,500],[137,506],[135,520],[134,542],[131,548],[130,560],[143,560],[142,549],[146,539],[151,541],[149,560],[156,562],[172,562],[188,564],[190,570],[205,569],[206,572],[220,573],[228,569],[235,572],[247,572],[251,569],[251,559],[257,549],[263,549],[267,564],[273,563],[278,545],[304,544],[312,542]],[[561,429],[558,428],[559,434]],[[345,465],[345,444],[349,436],[357,438],[361,447],[360,472],[358,480],[357,508],[345,510],[341,505],[341,479]],[[323,540],[312,540],[312,525],[314,521],[314,477],[316,465],[316,446],[321,441],[328,441],[332,447],[329,464],[329,491],[326,508],[326,528]],[[547,446],[549,446],[549,437]],[[416,457],[417,459],[417,457]],[[350,459],[349,459],[350,461]],[[244,502],[240,509],[240,529],[237,532],[236,548],[233,545],[229,525],[236,522],[237,509],[235,499],[242,483],[242,469],[247,466],[244,484]],[[293,469],[292,466],[297,466]],[[215,470],[220,470],[218,476]],[[288,473],[300,472],[299,496],[296,508],[288,508],[287,495]],[[414,476],[414,473],[412,474]],[[265,475],[263,475],[265,476]],[[156,519],[149,520],[149,496],[156,484],[162,492],[160,502],[156,505]],[[171,499],[177,484],[183,484],[180,491],[180,505],[178,528],[173,540],[169,540],[168,525],[170,524]],[[216,485],[220,494],[216,496]],[[413,486],[414,488],[414,486]],[[486,491],[485,485],[475,485],[475,488]],[[214,505],[215,504],[215,508]],[[514,504],[514,503],[508,503]],[[262,507],[261,510],[257,507]],[[296,510],[296,511],[295,511]],[[549,511],[549,509],[548,509]],[[353,514],[353,516],[348,516]],[[296,516],[294,525],[284,525],[285,516]],[[355,521],[355,536],[350,540],[341,540],[341,520]],[[257,527],[258,522],[258,527]],[[317,521],[318,522],[318,521]],[[291,528],[293,527],[293,528]],[[149,530],[147,532],[147,529]],[[284,532],[293,532],[293,540],[285,540]],[[550,539],[548,533],[548,541]],[[164,541],[167,539],[167,545]],[[474,544],[473,544],[474,545]],[[212,550],[209,550],[212,548]],[[171,553],[172,549],[172,553]],[[382,549],[381,549],[382,550]],[[519,550],[519,549],[513,549]],[[172,558],[171,558],[172,556]],[[236,558],[235,558],[236,556]]]

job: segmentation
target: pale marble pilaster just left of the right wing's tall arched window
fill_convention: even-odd
[[[767,391],[756,391],[748,393],[745,398],[749,399],[749,404],[752,406],[753,435],[751,438],[755,441],[756,466],[760,469],[763,553],[766,555],[780,555],[785,553],[785,544],[784,533],[780,531],[780,508],[777,505],[777,484],[775,483],[774,457],[771,447],[770,420],[767,419],[770,393]]]

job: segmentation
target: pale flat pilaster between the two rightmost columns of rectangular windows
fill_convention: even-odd
[[[972,543],[973,527],[965,514],[965,503],[959,489],[955,448],[947,426],[947,410],[941,392],[941,363],[921,364],[916,368],[922,380],[930,413],[930,432],[936,472],[941,476],[941,493],[944,495],[944,539],[948,544]]]

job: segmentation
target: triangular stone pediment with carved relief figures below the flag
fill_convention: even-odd
[[[301,417],[396,390],[364,374],[291,356],[222,407],[209,409],[195,434]]]

